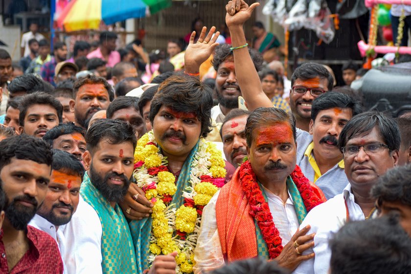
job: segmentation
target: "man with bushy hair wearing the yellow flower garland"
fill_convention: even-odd
[[[196,58],[209,55],[217,46],[218,33],[211,39],[214,30],[206,36],[203,29],[199,40],[207,43],[190,42],[197,52],[205,49]],[[153,130],[137,142],[134,187],[138,194],[133,196],[140,204],[153,204],[151,217],[129,223],[137,273],[150,267],[154,272],[160,264],[168,270],[174,267],[177,273],[192,273],[203,207],[226,181],[221,151],[204,139],[211,130],[212,91],[193,76],[177,74],[159,86],[149,114]],[[138,211],[127,200],[124,205],[129,206],[128,217]],[[170,262],[171,256],[160,260],[160,254],[175,255],[177,267],[171,263],[166,267],[163,259]]]

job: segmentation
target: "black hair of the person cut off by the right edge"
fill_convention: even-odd
[[[400,202],[411,206],[411,165],[389,169],[371,188],[371,195],[377,200],[377,206],[384,202]]]

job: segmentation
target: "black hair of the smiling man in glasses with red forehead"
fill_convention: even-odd
[[[333,76],[326,68],[317,63],[304,63],[296,68],[293,75],[291,76],[291,86],[294,86],[294,82],[297,79],[308,80],[316,77],[319,77],[320,79],[327,79],[327,89],[328,91],[332,91],[334,86]]]

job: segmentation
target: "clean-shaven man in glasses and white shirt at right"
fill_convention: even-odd
[[[382,113],[365,112],[353,117],[339,137],[345,174],[349,184],[342,194],[313,208],[300,229],[308,224],[308,233],[316,233],[313,259],[302,262],[294,274],[326,274],[331,251],[328,241],[348,221],[369,218],[375,211],[370,190],[388,169],[398,163],[400,131],[397,122]],[[377,240],[377,239],[376,239]],[[298,246],[298,245],[297,245]]]

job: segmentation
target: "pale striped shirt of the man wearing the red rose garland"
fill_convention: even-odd
[[[284,246],[290,241],[298,228],[298,218],[293,200],[289,194],[289,198],[284,204],[280,197],[270,192],[267,188],[264,188],[264,191],[267,194],[268,206],[273,215],[275,227],[280,232],[282,245]],[[211,198],[203,210],[200,234],[194,251],[196,264],[193,270],[195,274],[206,273],[224,265],[215,211],[219,193],[220,191]]]

